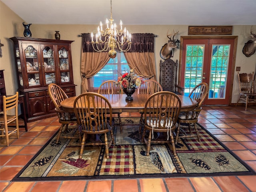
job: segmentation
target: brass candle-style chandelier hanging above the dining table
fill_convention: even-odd
[[[120,30],[116,28],[116,23],[113,24],[112,19],[112,0],[110,0],[110,20],[106,19],[106,29],[102,30],[102,22],[98,26],[98,32],[96,33],[96,38],[94,42],[94,34],[91,33],[92,37],[92,47],[97,52],[108,51],[108,56],[110,58],[115,58],[117,52],[126,52],[131,48],[131,34],[122,28],[122,21],[120,20]],[[110,22],[110,24],[109,24]],[[102,40],[104,38],[104,41]]]

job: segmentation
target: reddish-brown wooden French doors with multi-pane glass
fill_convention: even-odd
[[[185,88],[184,95],[197,84],[206,82],[209,93],[204,104],[231,103],[236,39],[234,36],[182,39],[179,80]]]

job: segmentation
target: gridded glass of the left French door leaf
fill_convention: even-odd
[[[192,89],[202,82],[203,61],[204,45],[186,46],[184,95],[188,96]]]

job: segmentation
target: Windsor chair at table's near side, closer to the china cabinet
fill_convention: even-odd
[[[112,131],[112,106],[101,94],[86,92],[80,94],[74,101],[74,111],[78,127],[82,133],[82,142],[79,158],[82,159],[85,145],[104,145],[106,158],[109,158],[109,147],[115,144]],[[107,133],[110,132],[111,140],[108,141]],[[104,134],[104,142],[87,142],[87,135]]]

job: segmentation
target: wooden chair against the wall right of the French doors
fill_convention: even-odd
[[[256,103],[256,92],[254,90],[254,72],[241,73],[238,72],[238,82],[239,82],[239,91],[240,97],[236,102],[236,106],[238,102],[245,103],[245,110],[250,103]]]

